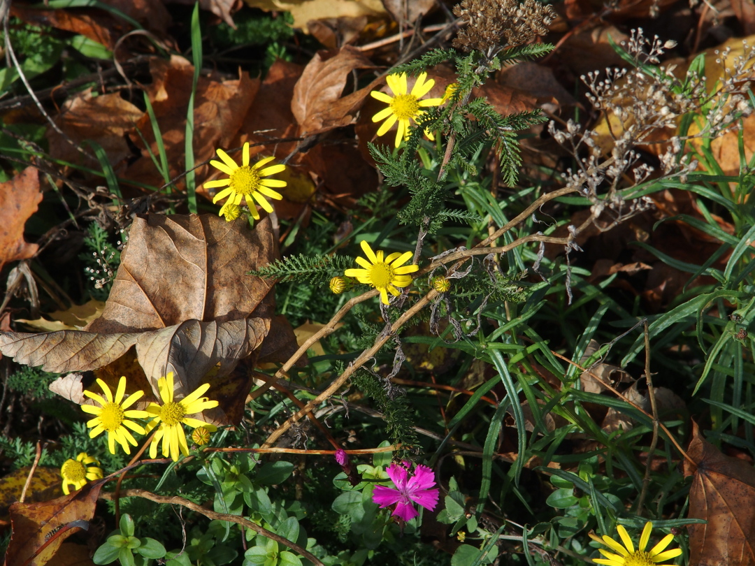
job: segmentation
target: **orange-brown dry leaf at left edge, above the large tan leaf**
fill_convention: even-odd
[[[0,271],[5,263],[37,253],[39,246],[24,241],[23,226],[41,201],[36,168],[27,167],[13,179],[0,183]]]

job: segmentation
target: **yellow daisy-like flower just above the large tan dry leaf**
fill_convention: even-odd
[[[281,200],[283,197],[279,192],[274,191],[273,187],[280,188],[286,186],[287,183],[277,179],[263,179],[263,177],[280,173],[285,169],[285,165],[270,165],[270,167],[262,169],[263,165],[267,165],[270,161],[273,161],[272,157],[260,159],[254,165],[249,165],[248,142],[244,144],[242,151],[242,165],[236,165],[236,161],[233,161],[230,155],[220,148],[217,149],[217,155],[223,161],[213,159],[210,161],[210,165],[223,171],[223,173],[228,175],[228,178],[208,181],[205,183],[205,189],[217,189],[221,186],[227,187],[218,192],[215,198],[212,199],[212,202],[216,203],[228,197],[228,201],[220,211],[220,216],[230,212],[228,205],[238,206],[241,204],[242,199],[245,200],[254,220],[260,220],[257,205],[260,205],[264,211],[273,212],[273,206],[270,205],[270,202],[265,197],[274,198],[277,201]],[[227,216],[226,219],[228,219]]]

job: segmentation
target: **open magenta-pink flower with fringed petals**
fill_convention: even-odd
[[[393,463],[386,470],[388,477],[396,484],[396,488],[386,488],[383,485],[375,486],[372,491],[372,501],[384,509],[394,503],[393,515],[410,521],[419,515],[413,503],[418,503],[428,511],[435,509],[438,504],[438,488],[435,485],[435,474],[427,466],[418,465],[414,475],[410,475],[411,463],[403,462],[403,465]]]

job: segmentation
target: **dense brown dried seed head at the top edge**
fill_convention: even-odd
[[[454,14],[467,26],[458,33],[454,47],[492,54],[501,45],[514,47],[535,41],[548,32],[556,12],[538,0],[463,0]]]

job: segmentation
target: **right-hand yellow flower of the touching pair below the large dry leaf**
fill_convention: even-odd
[[[178,460],[178,454],[189,455],[189,447],[186,444],[186,433],[183,432],[184,424],[191,426],[193,429],[199,426],[205,427],[210,432],[215,432],[217,427],[202,420],[186,417],[187,414],[201,413],[205,409],[217,407],[217,401],[209,401],[208,398],[202,397],[202,394],[210,389],[209,383],[204,383],[194,389],[192,393],[186,395],[180,401],[173,400],[173,372],[169,372],[165,377],[157,380],[157,388],[160,390],[162,405],[151,403],[146,408],[150,420],[146,426],[146,432],[149,434],[156,426],[159,429],[152,439],[149,446],[149,457],[157,457],[157,445],[162,438],[162,455],[166,458]]]

